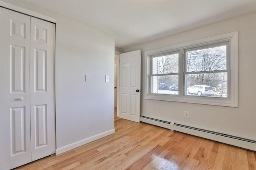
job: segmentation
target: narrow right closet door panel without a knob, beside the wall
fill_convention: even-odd
[[[31,17],[30,97],[32,161],[55,153],[55,24]]]

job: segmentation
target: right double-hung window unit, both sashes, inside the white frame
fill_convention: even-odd
[[[185,95],[228,98],[228,51],[229,42],[184,50]],[[194,85],[210,86],[214,93],[208,93],[207,89],[188,93],[188,89]]]

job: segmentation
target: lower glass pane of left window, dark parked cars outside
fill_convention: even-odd
[[[171,94],[178,95],[179,76],[151,76],[152,78],[152,94]],[[172,88],[170,90],[170,88]]]

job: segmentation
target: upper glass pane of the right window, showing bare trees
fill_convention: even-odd
[[[186,52],[187,72],[227,69],[227,46],[197,49]]]

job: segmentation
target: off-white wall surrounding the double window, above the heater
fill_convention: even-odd
[[[142,51],[144,94],[145,51],[238,31],[238,108],[141,98],[141,115],[256,140],[256,13],[220,21],[162,39],[123,49]],[[184,111],[190,112],[189,119]]]

